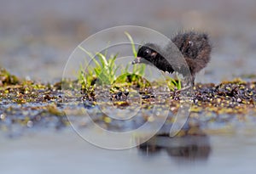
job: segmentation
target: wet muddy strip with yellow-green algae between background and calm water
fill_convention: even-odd
[[[74,82],[72,85],[75,86]],[[167,116],[159,133],[164,135],[177,111],[187,103],[191,104],[189,119],[183,127],[187,131],[181,134],[188,134],[188,130],[195,127],[214,133],[230,125],[256,124],[255,85],[255,81],[235,80],[217,85],[196,84],[193,89],[181,92],[162,87],[127,86],[114,92],[109,87],[97,87],[95,93],[81,93],[75,87],[68,92],[61,91],[60,82],[5,84],[0,87],[0,129],[13,136],[25,130],[49,127],[59,130],[70,123],[83,128],[89,126],[85,110],[97,125],[113,132],[131,131],[147,121]]]

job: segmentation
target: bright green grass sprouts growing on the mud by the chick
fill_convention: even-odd
[[[132,53],[134,57],[137,57],[137,49],[131,35],[125,31],[125,36],[131,42]],[[125,68],[121,69],[121,75],[117,78],[116,71],[121,68],[119,65],[115,64],[118,54],[110,55],[109,59],[107,58],[108,49],[103,53],[90,53],[81,46],[79,46],[84,53],[86,53],[90,59],[93,60],[95,67],[91,65],[84,70],[83,65],[80,66],[79,70],[79,84],[85,93],[92,93],[94,91],[94,85],[113,85],[115,87],[121,87],[124,85],[131,85],[136,83],[138,87],[147,87],[147,84],[144,84],[143,80],[144,72],[146,65],[132,65],[132,72],[128,71],[130,64],[126,65]],[[174,80],[171,77],[166,77],[167,86],[174,91],[175,88],[181,88],[181,81]],[[122,85],[123,83],[123,85]],[[127,84],[129,83],[129,84]]]

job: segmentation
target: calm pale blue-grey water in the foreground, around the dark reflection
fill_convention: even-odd
[[[165,149],[158,154],[145,154],[137,148],[100,149],[73,130],[37,132],[22,138],[1,138],[1,173],[255,172],[255,135],[212,136],[208,145],[207,157],[189,159],[170,156]]]

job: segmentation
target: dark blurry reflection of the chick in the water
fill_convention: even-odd
[[[154,136],[137,147],[141,154],[152,156],[166,151],[173,160],[207,160],[211,153],[210,141],[207,135],[186,135],[170,138]]]

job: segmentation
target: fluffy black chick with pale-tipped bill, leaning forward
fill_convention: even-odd
[[[177,71],[185,77],[191,74],[190,80],[194,85],[195,73],[207,66],[211,51],[207,34],[190,31],[174,36],[172,42],[165,48],[160,48],[154,43],[143,45],[139,48],[137,58],[132,64],[149,62],[163,71],[170,73]]]

